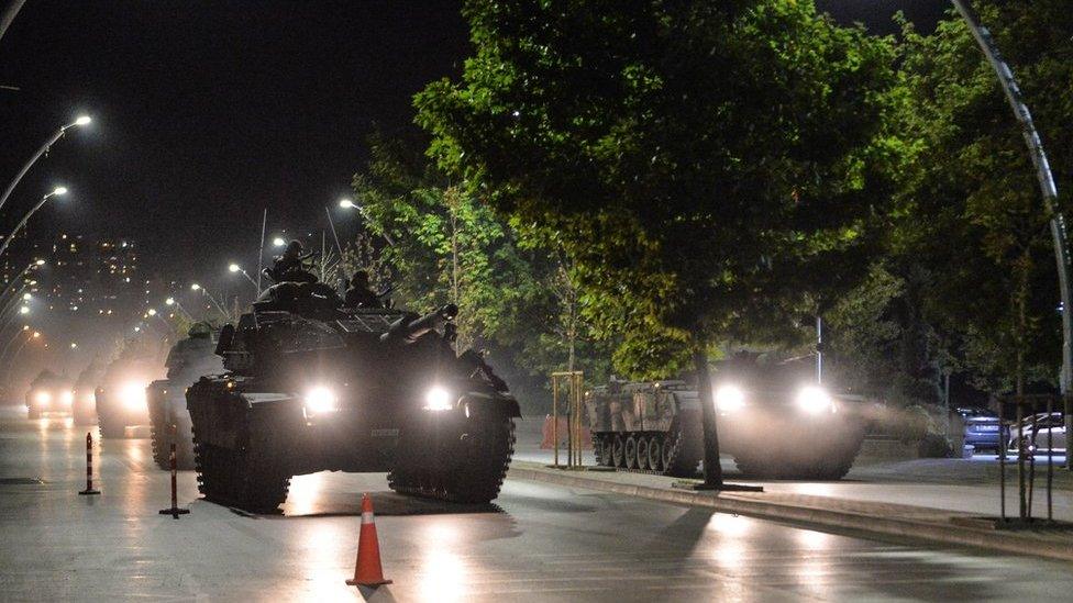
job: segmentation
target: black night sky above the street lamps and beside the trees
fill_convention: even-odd
[[[0,0],[0,5],[7,0]],[[930,27],[944,1],[820,1],[889,33]],[[4,232],[54,183],[68,200],[34,224],[131,236],[169,279],[226,279],[269,233],[320,232],[366,158],[374,123],[410,125],[411,96],[468,52],[460,2],[29,0],[0,41],[0,181],[86,112],[23,180]]]

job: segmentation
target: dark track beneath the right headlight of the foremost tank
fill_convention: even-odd
[[[460,437],[450,445],[453,449],[432,458],[416,454],[428,445],[423,434],[403,437],[388,487],[400,494],[446,502],[490,502],[499,495],[515,454],[515,422],[500,417],[482,427],[484,433],[465,434],[469,437]],[[467,442],[474,437],[478,444]]]

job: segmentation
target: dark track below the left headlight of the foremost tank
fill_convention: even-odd
[[[229,421],[236,422],[228,426],[234,428],[235,447],[210,445],[208,438],[199,438],[198,434],[201,429],[213,428],[211,409],[235,401],[229,400],[226,393],[213,391],[211,384],[196,387],[196,393],[193,390],[191,387],[195,403],[190,409],[195,439],[199,440],[195,445],[198,490],[206,500],[218,504],[253,513],[276,513],[287,500],[290,474],[284,472],[273,458],[273,447],[267,442],[273,433],[270,425],[253,425],[258,417],[244,407],[236,409],[237,412],[226,413]]]

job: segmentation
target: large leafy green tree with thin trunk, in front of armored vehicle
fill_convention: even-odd
[[[809,1],[469,1],[461,81],[418,94],[431,154],[576,261],[633,373],[790,325],[866,268],[888,192],[889,41]]]

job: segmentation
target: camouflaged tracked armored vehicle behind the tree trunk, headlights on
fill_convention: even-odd
[[[720,453],[748,477],[840,479],[864,440],[855,404],[815,383],[800,359],[717,362]],[[586,399],[597,462],[688,477],[703,457],[699,395],[684,381],[612,382]]]

